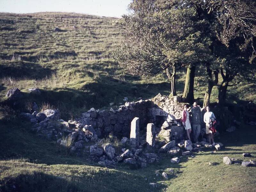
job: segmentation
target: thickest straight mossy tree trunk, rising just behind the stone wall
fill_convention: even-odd
[[[185,88],[182,95],[184,102],[192,103],[194,101],[194,78],[196,66],[189,66],[187,69]]]

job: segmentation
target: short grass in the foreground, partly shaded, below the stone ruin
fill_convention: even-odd
[[[17,191],[255,191],[256,167],[222,162],[224,156],[256,160],[255,127],[241,126],[216,138],[225,145],[217,153],[204,151],[195,153],[195,158],[181,157],[180,164],[171,164],[171,156],[163,154],[158,164],[130,170],[122,164],[105,168],[86,157],[67,156],[55,142],[30,132],[29,124],[18,118],[7,120],[0,122],[3,191],[12,191],[13,185]],[[244,152],[252,157],[244,158]],[[217,165],[210,166],[209,162]],[[175,170],[168,180],[156,176],[157,170],[168,173],[168,169]],[[158,188],[151,188],[149,182],[158,183]]]

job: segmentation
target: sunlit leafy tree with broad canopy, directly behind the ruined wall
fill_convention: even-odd
[[[209,47],[209,39],[202,28],[205,21],[197,20],[195,8],[184,2],[133,1],[130,4],[132,14],[124,15],[117,23],[123,30],[124,41],[113,53],[128,73],[149,77],[165,71],[172,95],[176,95],[177,68],[195,70],[208,54]],[[187,74],[192,76],[187,75],[186,82],[190,84],[186,84],[183,95],[190,101],[194,99],[194,83],[191,83],[194,73]]]

